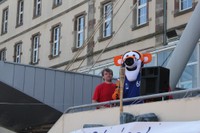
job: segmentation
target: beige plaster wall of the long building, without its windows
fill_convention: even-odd
[[[80,70],[106,65],[108,62],[113,63],[112,59],[118,54],[123,54],[128,50],[139,50],[142,52],[150,51],[152,48],[160,47],[163,44],[162,33],[157,33],[156,25],[162,24],[162,18],[157,19],[157,8],[162,8],[158,5],[158,1],[148,1],[148,24],[137,28],[133,27],[133,10],[135,5],[133,1],[111,0],[113,2],[113,38],[100,41],[100,31],[97,28],[101,20],[101,4],[108,0],[91,0],[94,2],[94,48],[92,53],[93,62],[96,64],[87,63],[87,47],[79,54],[77,63],[74,63],[69,70],[76,69],[79,66]],[[194,5],[197,0],[193,0]],[[22,57],[21,63],[29,64],[31,60],[31,37],[35,33],[40,33],[40,48],[39,48],[39,63],[38,66],[54,67],[65,69],[66,64],[71,62],[71,59],[78,51],[73,52],[74,47],[74,18],[77,14],[85,12],[85,39],[88,37],[88,11],[89,0],[71,0],[62,1],[62,5],[53,8],[53,1],[42,0],[41,16],[33,18],[33,1],[24,1],[24,22],[22,26],[16,27],[17,1],[6,0],[0,5],[0,18],[2,18],[2,10],[9,8],[8,18],[8,33],[0,37],[0,49],[6,47],[6,61],[14,61],[14,45],[22,41]],[[192,10],[184,14],[174,16],[175,2],[167,1],[167,30],[184,28],[192,14]],[[159,21],[159,22],[158,22]],[[0,21],[0,25],[2,21]],[[49,59],[50,55],[50,40],[51,28],[55,24],[61,23],[61,39],[60,51],[58,58]],[[180,27],[181,26],[181,27]],[[161,29],[162,30],[162,29]],[[160,34],[160,39],[156,34]],[[102,50],[104,50],[101,55]],[[82,63],[81,63],[82,62]],[[81,64],[80,64],[81,63]]]

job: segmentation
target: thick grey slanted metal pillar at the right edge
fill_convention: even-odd
[[[200,2],[198,2],[182,36],[167,64],[170,69],[170,87],[175,89],[187,62],[200,39]]]

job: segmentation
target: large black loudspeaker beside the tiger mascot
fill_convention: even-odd
[[[164,67],[144,67],[141,73],[140,95],[150,95],[169,91],[169,69]]]

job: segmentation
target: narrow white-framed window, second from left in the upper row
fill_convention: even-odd
[[[24,14],[24,0],[18,1],[18,7],[17,7],[17,26],[20,26],[23,24],[23,14]]]

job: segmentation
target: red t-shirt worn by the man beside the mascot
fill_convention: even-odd
[[[93,100],[96,100],[97,102],[105,102],[110,101],[112,99],[112,94],[114,93],[116,88],[116,85],[111,83],[101,83],[99,84],[94,91]]]

